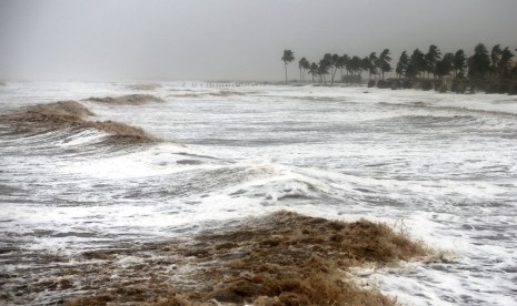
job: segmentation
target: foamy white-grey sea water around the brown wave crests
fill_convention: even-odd
[[[165,102],[81,103],[163,142],[119,145],[92,129],[20,137],[0,125],[2,272],[31,252],[185,237],[288,208],[385,221],[448,254],[364,276],[405,305],[517,305],[515,96],[9,83],[0,112],[129,93]]]

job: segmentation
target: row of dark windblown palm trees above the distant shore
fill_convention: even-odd
[[[517,51],[517,49],[516,49]],[[451,75],[454,78],[466,78],[484,80],[491,79],[517,79],[517,67],[511,65],[514,53],[508,47],[501,49],[500,44],[493,47],[491,52],[485,44],[479,43],[474,49],[474,54],[468,57],[463,49],[455,53],[445,53],[435,44],[429,45],[427,53],[419,49],[415,49],[409,55],[407,51],[402,51],[398,63],[395,67],[397,78],[439,78]],[[287,83],[287,65],[295,60],[295,53],[291,50],[284,50],[281,60],[286,69]],[[389,49],[382,50],[377,57],[376,52],[371,52],[368,57],[349,57],[348,54],[338,55],[326,53],[318,63],[309,62],[306,58],[298,61],[300,70],[300,81],[305,81],[306,72],[319,82],[327,84],[327,75],[330,78],[330,85],[334,85],[336,72],[339,70],[341,80],[360,81],[364,71],[368,72],[368,79],[371,80],[378,75],[379,79],[385,79],[385,73],[390,72],[391,54]],[[344,71],[346,75],[344,75]]]

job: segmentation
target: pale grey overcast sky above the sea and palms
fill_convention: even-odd
[[[517,0],[0,0],[0,79],[282,80],[285,49],[517,48]]]

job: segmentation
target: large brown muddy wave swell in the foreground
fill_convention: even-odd
[[[358,287],[347,269],[426,253],[384,224],[282,211],[193,238],[17,256],[26,265],[3,273],[0,288],[7,303],[73,306],[395,305],[379,290]]]

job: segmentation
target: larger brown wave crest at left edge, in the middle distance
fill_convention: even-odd
[[[88,121],[93,113],[77,101],[59,101],[23,108],[0,115],[0,124],[9,126],[10,135],[34,135],[63,129],[96,129],[123,142],[157,142],[157,137],[140,128],[115,121]]]

